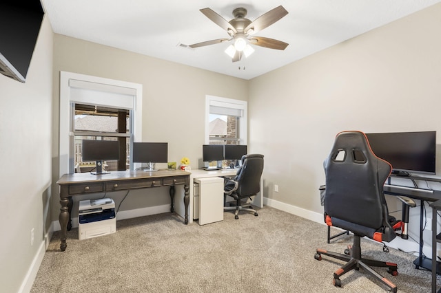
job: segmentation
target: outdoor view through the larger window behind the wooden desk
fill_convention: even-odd
[[[132,124],[130,111],[95,105],[74,105],[74,166],[75,172],[90,172],[95,162],[83,161],[83,140],[119,141],[119,161],[103,162],[105,171],[130,169],[130,138]]]

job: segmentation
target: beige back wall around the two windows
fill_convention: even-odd
[[[55,34],[54,140],[58,141],[59,72],[75,72],[143,85],[143,141],[168,142],[170,162],[188,157],[197,168],[205,142],[205,96],[247,100],[248,82],[157,58]],[[58,146],[57,146],[58,147]],[[58,167],[54,170],[57,181]],[[57,186],[53,186],[57,188]],[[112,194],[116,205],[124,193]],[[79,198],[76,198],[78,200]],[[129,200],[130,199],[130,200]],[[170,202],[166,188],[131,191],[121,210]],[[54,198],[52,219],[59,214]],[[76,202],[72,215],[76,215]]]

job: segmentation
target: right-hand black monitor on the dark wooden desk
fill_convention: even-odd
[[[155,163],[168,162],[168,143],[167,142],[134,142],[133,143],[133,162],[147,163],[144,171],[157,171],[154,169]]]

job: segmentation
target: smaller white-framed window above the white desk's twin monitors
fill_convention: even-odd
[[[247,144],[246,101],[207,96],[205,116],[205,144]]]

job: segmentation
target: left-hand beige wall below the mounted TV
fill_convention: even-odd
[[[52,43],[45,17],[26,83],[0,75],[1,292],[19,291],[51,221]]]

